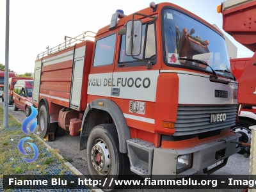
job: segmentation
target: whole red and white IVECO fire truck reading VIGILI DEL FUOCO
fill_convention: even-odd
[[[42,138],[81,125],[90,173],[116,178],[212,173],[240,150],[232,142],[241,134],[230,131],[237,82],[224,71],[218,29],[175,4],[151,3],[131,15],[118,10],[95,42],[84,40],[89,34],[37,56]]]

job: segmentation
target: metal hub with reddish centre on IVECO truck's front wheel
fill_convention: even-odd
[[[107,175],[110,168],[110,155],[106,143],[102,140],[94,142],[91,152],[93,168],[99,175]]]

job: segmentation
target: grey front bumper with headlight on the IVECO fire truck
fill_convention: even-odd
[[[233,136],[222,138],[221,140],[182,150],[155,148],[152,175],[177,175],[177,177],[182,177],[204,170],[204,168],[207,168],[222,159],[227,159],[229,156],[239,152],[240,148],[230,141],[237,141],[237,138],[240,136],[241,134],[235,134]],[[216,152],[223,149],[225,149],[225,156],[216,159]],[[186,154],[193,154],[193,165],[185,172],[177,174],[178,156]]]

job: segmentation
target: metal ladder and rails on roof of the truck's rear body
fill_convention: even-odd
[[[92,35],[93,34],[93,35]],[[51,49],[49,49],[49,46],[46,47],[47,51],[41,52],[37,55],[36,60],[43,58],[44,56],[47,56],[49,54],[52,54],[54,52],[58,52],[61,51],[63,49],[66,49],[67,47],[70,47],[71,45],[74,45],[75,42],[77,41],[81,41],[83,42],[85,40],[86,37],[92,37],[94,38],[96,35],[96,33],[92,32],[92,31],[85,31],[84,33],[82,33],[81,35],[75,36],[74,38],[69,37],[69,36],[65,36],[65,42],[62,44],[59,44],[55,47],[52,47]],[[67,40],[67,38],[70,38],[69,40]]]

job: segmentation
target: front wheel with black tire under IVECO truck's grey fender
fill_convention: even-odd
[[[127,154],[119,152],[118,134],[113,124],[97,125],[92,129],[87,141],[86,154],[93,179],[107,177],[110,181],[112,178],[118,179],[120,175],[130,173],[129,158]],[[113,188],[115,184],[104,188],[104,191],[111,191]]]

